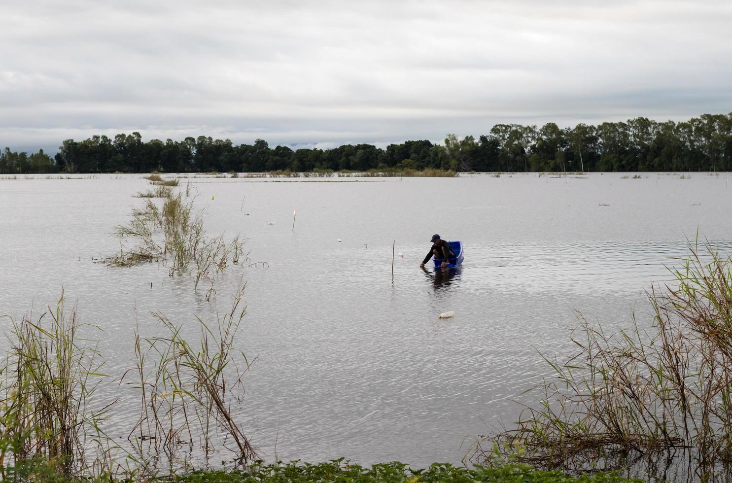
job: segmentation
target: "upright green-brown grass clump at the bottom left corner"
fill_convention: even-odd
[[[42,474],[64,477],[108,471],[108,438],[100,430],[108,405],[91,405],[103,378],[96,343],[80,336],[76,307],[61,295],[34,320],[12,321],[1,366],[0,470],[3,481]],[[89,454],[89,446],[94,451]]]

